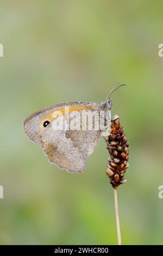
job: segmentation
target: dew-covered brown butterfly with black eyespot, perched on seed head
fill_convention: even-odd
[[[102,103],[70,102],[41,109],[24,121],[24,132],[42,147],[49,162],[70,173],[83,172],[87,157],[109,129],[110,95],[123,85],[112,88]]]

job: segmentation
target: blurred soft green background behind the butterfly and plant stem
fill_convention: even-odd
[[[59,102],[106,99],[130,142],[118,190],[123,244],[163,244],[162,1],[0,1],[1,244],[117,244],[108,151],[101,139],[85,172],[49,164],[22,129]]]

